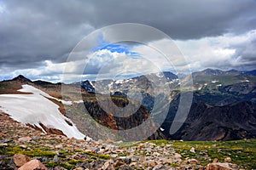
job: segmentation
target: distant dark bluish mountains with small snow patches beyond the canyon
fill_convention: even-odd
[[[152,93],[154,88],[148,79],[150,75],[122,81],[102,81],[102,86],[112,87],[104,88],[104,93],[109,90],[112,94],[122,97],[126,96],[132,86],[143,89],[137,93],[142,94],[142,103],[147,107],[148,114],[151,114],[150,111],[156,97],[163,93],[170,93],[172,96],[170,108],[166,121],[161,126],[162,129],[165,129],[162,132],[165,134],[165,138],[186,140],[250,139],[256,136],[256,77],[253,72],[207,69],[193,73],[195,90],[193,104],[188,119],[174,135],[169,134],[169,129],[179,105],[178,83],[180,81],[176,79],[177,77],[168,77],[171,93],[160,92],[157,87],[154,88],[157,88],[158,94]],[[152,79],[160,81],[161,78],[154,75]],[[96,84],[96,82],[88,81],[86,83],[90,84],[90,89]],[[82,88],[84,87],[85,84]]]

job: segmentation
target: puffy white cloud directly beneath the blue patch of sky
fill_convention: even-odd
[[[111,52],[108,49],[98,50],[89,55],[84,73],[94,69],[95,77],[117,78],[133,74],[143,74],[156,69],[154,61],[144,56],[133,56],[125,53]],[[93,72],[93,71],[92,71]]]

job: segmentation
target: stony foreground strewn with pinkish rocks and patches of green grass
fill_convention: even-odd
[[[241,165],[236,165],[231,158],[233,153],[224,154],[218,143],[198,146],[185,144],[183,141],[166,140],[132,143],[111,140],[85,141],[39,132],[15,122],[3,112],[0,112],[0,120],[0,169],[255,168],[252,155],[255,153],[252,150],[247,150],[247,158],[241,157],[242,160],[247,159],[249,162],[244,161]],[[248,141],[248,144],[251,143]],[[216,153],[212,153],[211,148]],[[244,156],[236,156],[236,152],[239,151],[241,152],[237,148],[234,151],[235,158]]]

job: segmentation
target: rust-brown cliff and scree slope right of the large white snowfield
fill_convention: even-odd
[[[115,97],[113,101],[121,108],[121,106],[127,104],[128,100]],[[140,139],[137,136],[138,134],[148,132],[150,131],[149,129],[152,129],[153,133],[149,135],[148,139],[166,139],[164,134],[157,130],[153,121],[148,123],[147,128],[138,129],[137,133],[130,133],[129,136],[118,132],[118,130],[129,130],[137,127],[148,119],[148,110],[143,105],[140,105],[138,110],[131,115],[128,115],[130,113],[129,110],[124,110],[122,115],[120,115],[119,112],[115,111],[117,108],[108,107],[109,111],[104,111],[97,103],[95,97],[92,97],[85,99],[84,103],[73,104],[72,107],[67,107],[66,109],[66,116],[73,120],[82,133],[90,134],[90,137],[93,139],[137,140]]]

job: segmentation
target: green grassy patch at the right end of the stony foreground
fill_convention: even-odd
[[[214,158],[224,161],[230,157],[233,163],[243,168],[256,168],[256,139],[238,140],[238,141],[172,141],[173,147],[179,154],[185,157],[193,157],[201,162],[201,165],[207,165]],[[194,147],[195,153],[189,150]],[[211,161],[205,159],[211,158]]]

